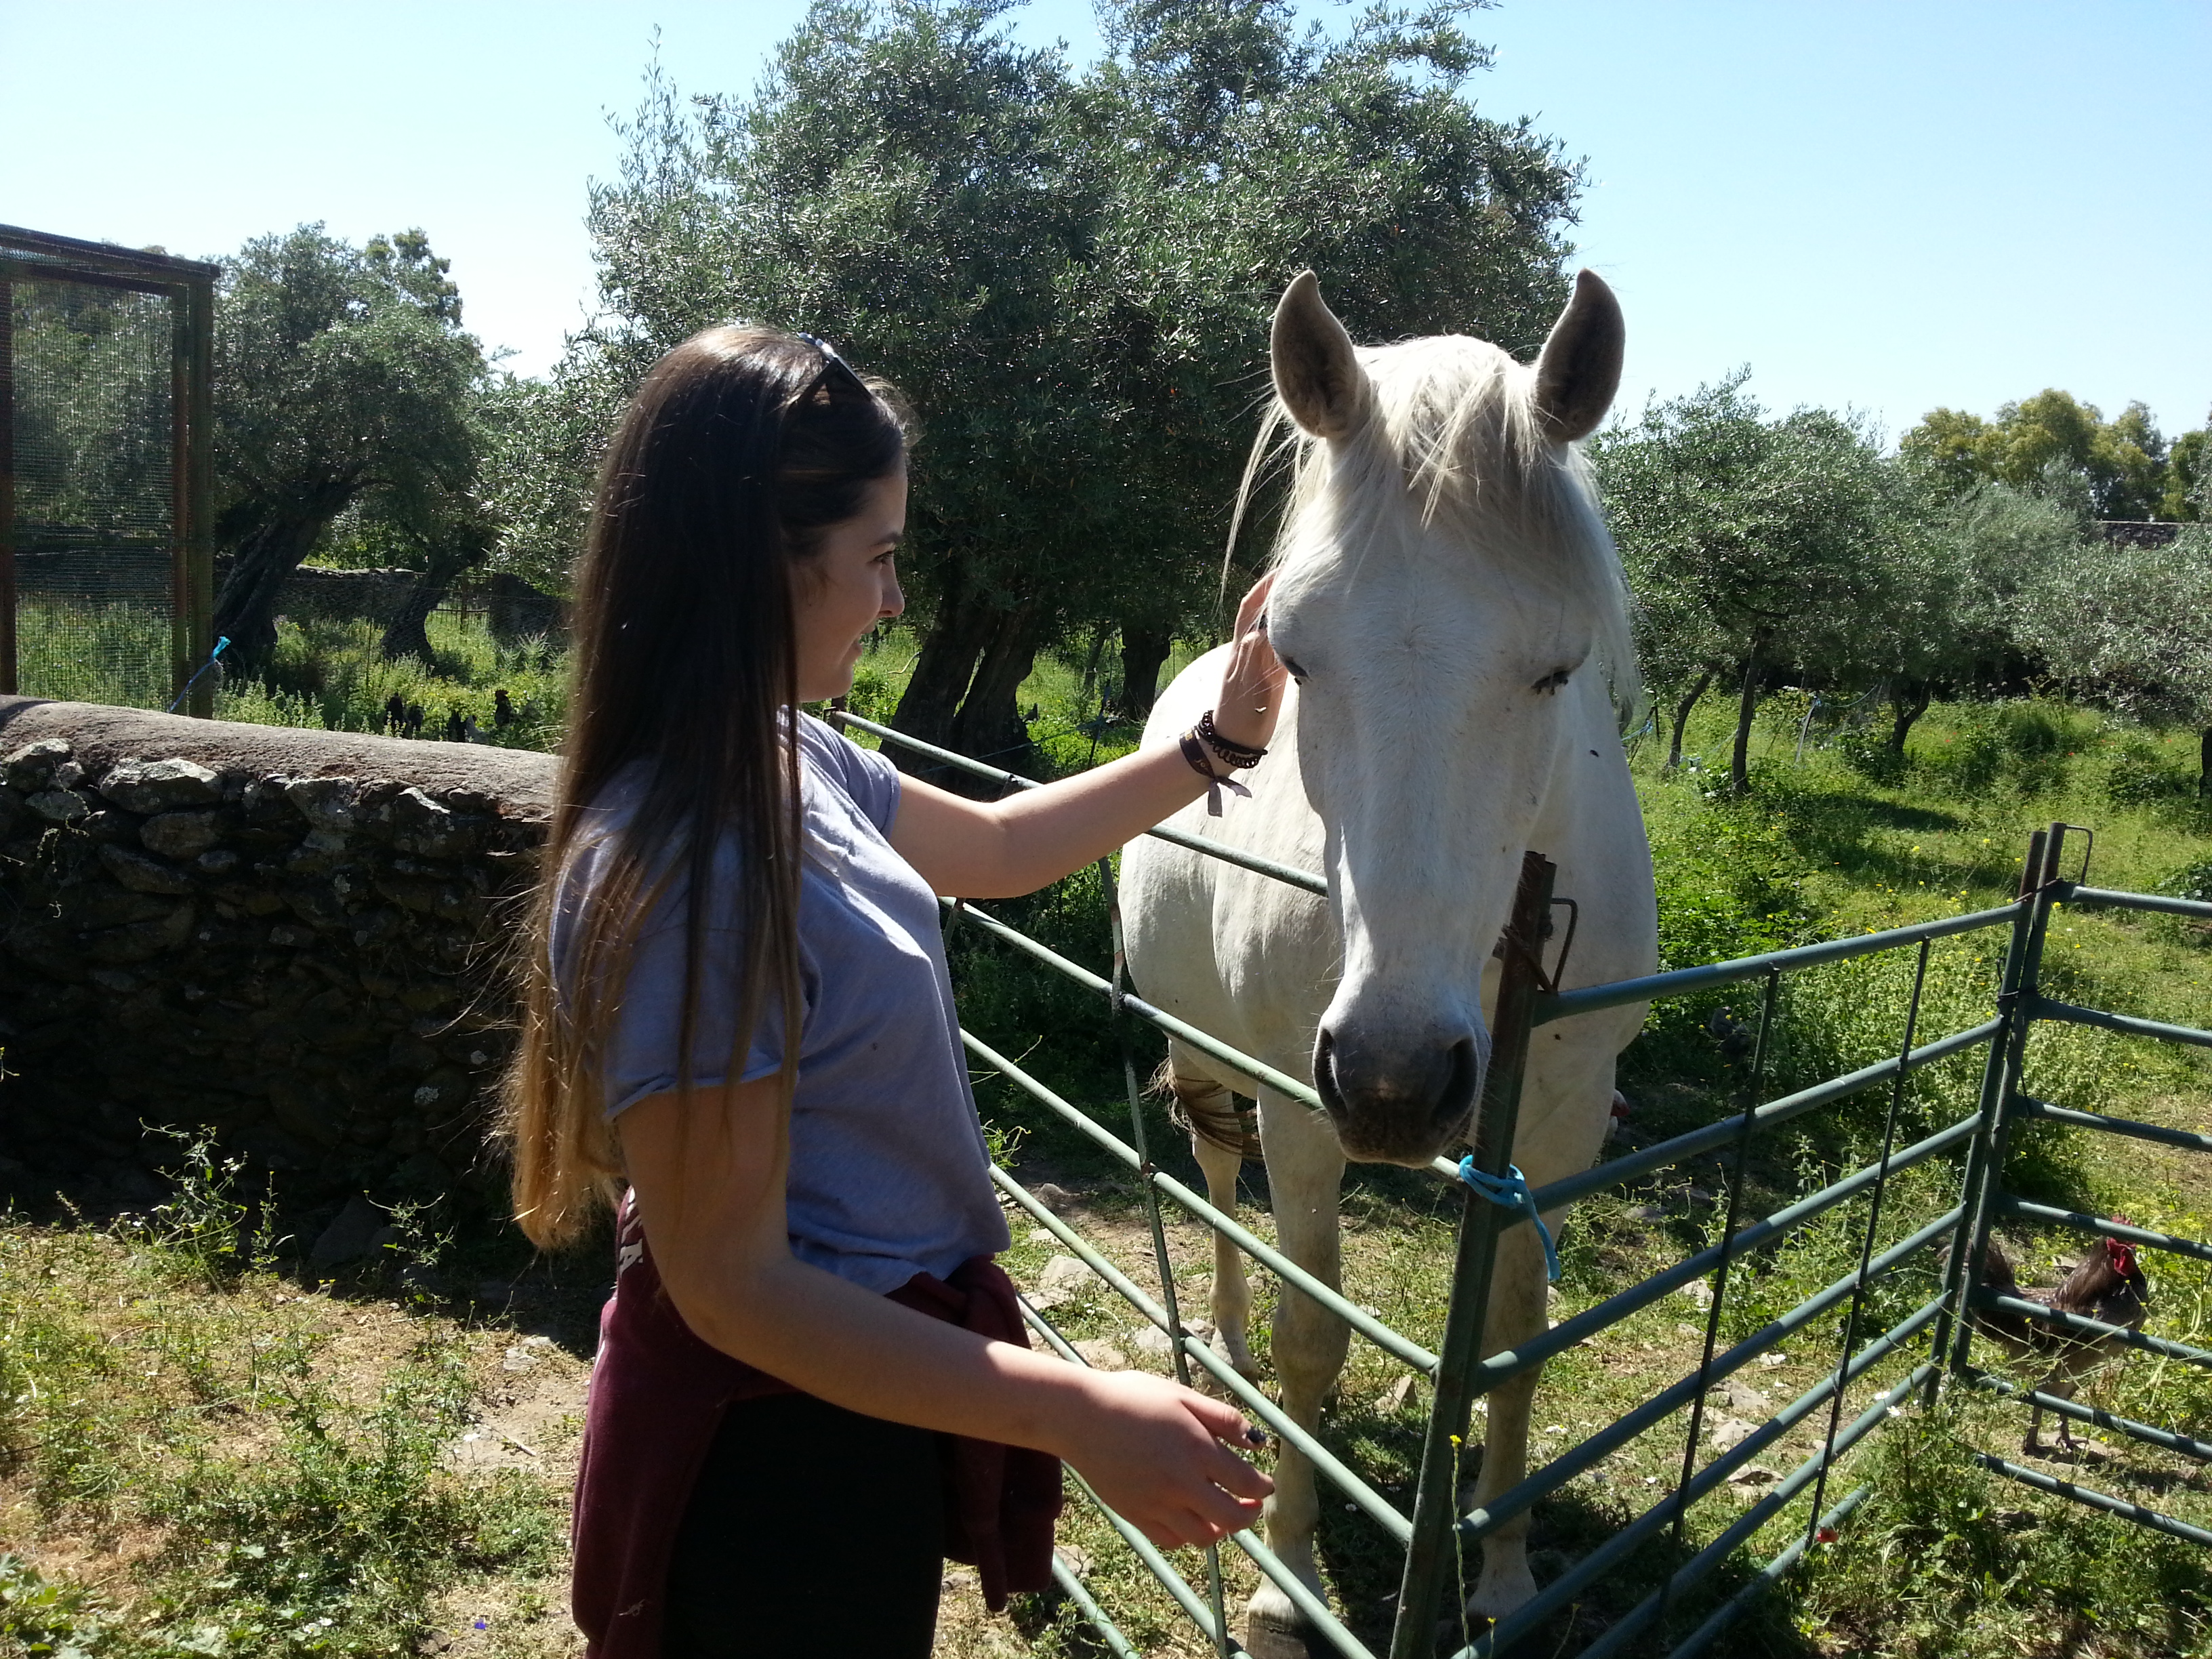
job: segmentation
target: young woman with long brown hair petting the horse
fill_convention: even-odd
[[[918,1659],[945,1553],[993,1601],[1042,1588],[1057,1458],[1164,1546],[1270,1491],[1234,1409],[1029,1349],[936,902],[1033,891],[1250,765],[1263,588],[1181,752],[989,805],[900,776],[799,706],[905,604],[905,447],[830,347],[719,327],[599,478],[511,1086],[533,1241],[628,1188],[575,1513],[599,1659]]]

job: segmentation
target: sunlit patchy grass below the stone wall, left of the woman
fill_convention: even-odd
[[[0,1223],[0,1535],[46,1557],[0,1555],[0,1655],[403,1655],[456,1586],[544,1575],[564,1493],[447,1467],[495,1338],[361,1312],[374,1270],[303,1287],[234,1168],[179,1175],[148,1217]]]

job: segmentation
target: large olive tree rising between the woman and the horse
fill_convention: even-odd
[[[1015,688],[1115,628],[1144,701],[1219,588],[1267,314],[1316,265],[1367,336],[1535,345],[1579,179],[1475,115],[1453,9],[1307,33],[1283,0],[1108,0],[1075,75],[1004,0],[818,0],[750,97],[657,73],[595,188],[606,321],[571,372],[635,383],[717,321],[838,341],[920,414],[898,726],[1018,743]],[[619,392],[615,392],[619,396]]]

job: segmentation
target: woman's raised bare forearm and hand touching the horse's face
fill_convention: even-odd
[[[1267,630],[1261,582],[1237,608],[1237,641],[1221,670],[1214,726],[1234,743],[1265,748],[1283,701],[1283,664]],[[1214,759],[1214,757],[1208,757]],[[891,845],[940,894],[1009,898],[1033,894],[1104,858],[1206,790],[1179,750],[1139,750],[1042,790],[1004,801],[967,801],[920,779],[902,779]]]

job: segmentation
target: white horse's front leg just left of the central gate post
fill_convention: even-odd
[[[1296,1102],[1261,1093],[1261,1144],[1267,1148],[1267,1186],[1274,1192],[1276,1248],[1329,1290],[1343,1283],[1336,1194],[1345,1179],[1345,1155],[1327,1119]],[[1349,1329],[1305,1294],[1283,1285],[1276,1292],[1270,1349],[1283,1385],[1283,1411],[1307,1433],[1321,1429],[1321,1402],[1345,1369]],[[1267,1548],[1321,1595],[1314,1568],[1314,1531],[1321,1495],[1314,1467],[1283,1444],[1274,1462],[1274,1495],[1267,1500]],[[1254,1659],[1305,1659],[1305,1617],[1272,1582],[1263,1582],[1245,1606],[1245,1646]]]

